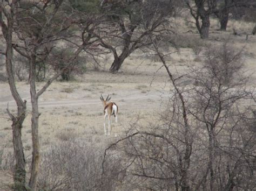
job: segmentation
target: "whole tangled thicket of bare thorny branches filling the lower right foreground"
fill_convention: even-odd
[[[228,44],[208,48],[203,66],[178,76],[159,51],[160,41],[152,46],[173,86],[170,104],[156,124],[134,124],[105,158],[118,152],[126,181],[137,188],[255,189],[255,119],[243,104],[254,93],[246,87],[241,51]],[[179,86],[185,77],[197,83]]]

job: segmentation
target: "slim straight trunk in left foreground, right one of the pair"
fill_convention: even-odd
[[[36,52],[36,51],[34,51]],[[38,136],[38,96],[36,93],[36,54],[31,55],[29,60],[29,82],[30,82],[30,96],[32,104],[32,117],[31,117],[31,134],[32,134],[32,164],[31,176],[29,186],[32,190],[36,190],[37,176],[39,173],[40,153],[39,153],[39,136]]]

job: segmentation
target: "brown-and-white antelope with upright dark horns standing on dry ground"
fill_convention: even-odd
[[[104,97],[102,96],[102,94],[100,94],[99,98],[102,101],[103,107],[104,107],[104,132],[105,132],[105,135],[106,135],[105,120],[106,120],[106,116],[107,116],[107,118],[109,118],[109,135],[110,135],[110,128],[111,128],[111,132],[112,132],[111,116],[114,115],[114,118],[116,118],[116,123],[117,123],[118,106],[114,102],[109,102],[110,99],[111,99],[111,96],[109,97],[109,95],[107,95],[106,100],[104,100]],[[107,102],[109,102],[109,103],[107,103]]]

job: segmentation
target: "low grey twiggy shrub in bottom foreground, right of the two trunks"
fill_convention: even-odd
[[[120,159],[108,160],[104,150],[82,140],[51,145],[43,153],[38,188],[43,190],[113,190],[119,182]]]

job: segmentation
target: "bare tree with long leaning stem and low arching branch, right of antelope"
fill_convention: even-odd
[[[146,23],[144,23],[146,27]],[[189,169],[193,151],[193,135],[189,120],[189,110],[184,95],[186,91],[179,88],[178,79],[171,73],[160,52],[163,41],[154,40],[149,35],[152,50],[159,56],[163,67],[169,75],[173,86],[172,100],[165,115],[161,115],[158,125],[142,127],[132,126],[130,134],[110,145],[107,151],[117,144],[124,144],[120,152],[126,159],[126,173],[131,176],[134,187],[148,189],[191,190]],[[165,39],[165,38],[163,38]],[[104,163],[103,163],[104,167]],[[138,186],[140,185],[140,186]]]

